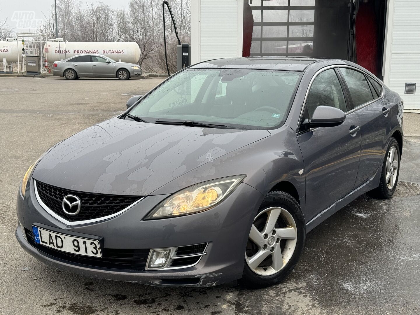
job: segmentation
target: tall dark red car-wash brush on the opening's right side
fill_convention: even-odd
[[[378,22],[373,3],[360,3],[356,16],[356,58],[357,64],[377,74]]]

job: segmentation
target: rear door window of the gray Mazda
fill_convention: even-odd
[[[373,100],[372,92],[364,74],[349,68],[340,68],[340,70],[349,87],[354,107]]]

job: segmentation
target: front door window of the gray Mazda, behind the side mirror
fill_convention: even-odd
[[[321,105],[339,108],[343,112],[347,111],[343,89],[334,69],[321,72],[312,82],[306,100],[309,118],[312,118],[315,108]]]

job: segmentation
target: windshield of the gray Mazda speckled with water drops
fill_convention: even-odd
[[[147,121],[199,121],[239,129],[282,124],[301,72],[187,69],[144,97],[131,115]]]

